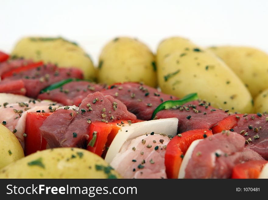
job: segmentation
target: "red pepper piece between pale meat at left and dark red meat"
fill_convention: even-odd
[[[25,156],[44,150],[47,147],[47,141],[42,137],[39,128],[45,119],[52,113],[27,113],[25,127]]]

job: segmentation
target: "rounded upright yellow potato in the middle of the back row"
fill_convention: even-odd
[[[99,82],[144,82],[157,86],[155,57],[143,43],[128,37],[115,38],[102,49]]]

